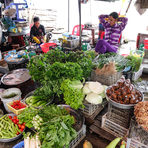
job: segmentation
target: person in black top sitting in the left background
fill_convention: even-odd
[[[33,39],[36,43],[44,43],[45,38],[45,28],[40,24],[39,17],[34,17],[34,25],[31,27],[30,38]]]

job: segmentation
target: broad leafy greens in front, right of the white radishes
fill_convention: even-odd
[[[74,117],[63,108],[49,106],[39,111],[39,116],[44,123],[40,127],[39,138],[42,148],[66,148],[76,137],[76,131],[72,128]]]

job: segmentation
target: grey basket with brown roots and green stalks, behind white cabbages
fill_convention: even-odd
[[[91,73],[91,80],[103,85],[115,84],[122,76],[127,59],[116,53],[106,53],[94,59],[95,69]]]

